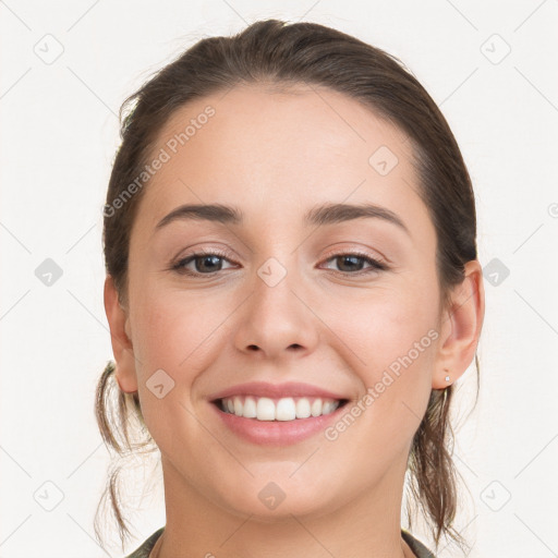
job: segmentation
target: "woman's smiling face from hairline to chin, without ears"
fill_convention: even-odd
[[[131,234],[134,360],[119,381],[138,390],[167,483],[263,519],[320,513],[402,482],[442,336],[436,232],[410,142],[356,101],[317,92],[236,87],[175,112],[154,149],[169,158]],[[210,204],[239,219],[190,210],[160,223]],[[335,204],[376,208],[320,211]],[[347,403],[259,421],[214,402],[254,381],[304,384],[236,389],[262,417],[278,411],[258,396],[295,396],[279,403],[283,417],[293,403],[307,414],[305,393],[318,409],[316,390]],[[277,510],[266,504],[281,494]]]

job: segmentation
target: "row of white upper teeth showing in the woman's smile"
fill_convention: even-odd
[[[306,397],[286,397],[274,400],[267,397],[227,397],[220,400],[222,411],[257,421],[294,421],[332,413],[340,401]]]

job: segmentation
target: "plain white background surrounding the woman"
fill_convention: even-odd
[[[0,557],[122,556],[114,527],[106,549],[93,531],[108,464],[93,408],[112,357],[101,210],[116,114],[195,40],[265,17],[323,23],[387,50],[447,117],[474,182],[481,263],[510,271],[498,286],[485,277],[481,396],[469,417],[474,368],[458,383],[454,460],[470,495],[456,527],[474,558],[556,556],[558,2],[5,0]],[[36,53],[46,40],[56,52],[47,34],[63,48],[51,63]],[[63,271],[50,287],[35,275],[46,258]],[[136,534],[126,554],[165,524],[160,493],[141,508],[126,512]]]

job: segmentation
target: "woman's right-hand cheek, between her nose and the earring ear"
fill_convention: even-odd
[[[347,345],[348,366],[373,396],[366,405],[373,410],[365,414],[384,424],[386,440],[391,435],[400,439],[400,429],[416,428],[426,409],[439,337],[436,296],[432,286],[386,288],[345,301],[336,313],[331,329]],[[369,432],[375,432],[372,423]]]

